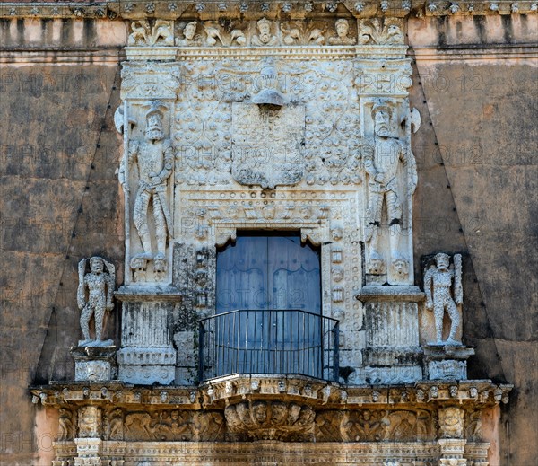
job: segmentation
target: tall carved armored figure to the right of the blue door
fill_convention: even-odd
[[[391,136],[392,110],[383,103],[372,109],[374,119],[373,150],[365,154],[364,168],[369,174],[369,222],[367,241],[369,241],[370,273],[383,273],[385,263],[378,250],[379,228],[386,204],[386,216],[391,229],[389,235],[392,266],[397,275],[406,275],[408,260],[398,251],[402,224],[402,202],[404,194],[412,195],[417,184],[417,171],[414,157],[409,150]],[[400,166],[409,168],[407,192],[398,180]]]

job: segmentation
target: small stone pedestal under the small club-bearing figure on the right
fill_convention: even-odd
[[[466,380],[467,359],[473,356],[472,347],[426,345],[424,371],[429,380]]]

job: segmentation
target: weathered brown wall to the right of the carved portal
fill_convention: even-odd
[[[415,254],[465,254],[469,378],[515,385],[501,407],[503,465],[536,461],[535,31],[535,15],[408,22],[412,104],[422,116]]]

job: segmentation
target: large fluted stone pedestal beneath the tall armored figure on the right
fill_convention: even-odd
[[[357,296],[365,308],[363,350],[368,383],[409,383],[422,378],[417,286],[365,286]]]

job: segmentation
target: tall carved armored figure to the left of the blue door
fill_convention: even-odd
[[[143,253],[131,259],[131,268],[144,270],[148,260],[153,259],[156,273],[166,272],[166,244],[171,217],[167,205],[166,191],[174,163],[172,143],[164,138],[162,128],[163,110],[161,101],[152,101],[146,113],[146,133],[144,141],[133,141],[129,145],[127,163],[138,165],[139,185],[134,199],[133,220]],[[125,167],[120,170],[120,182],[125,184]],[[148,226],[148,210],[152,203],[157,251],[152,249],[152,238]]]

